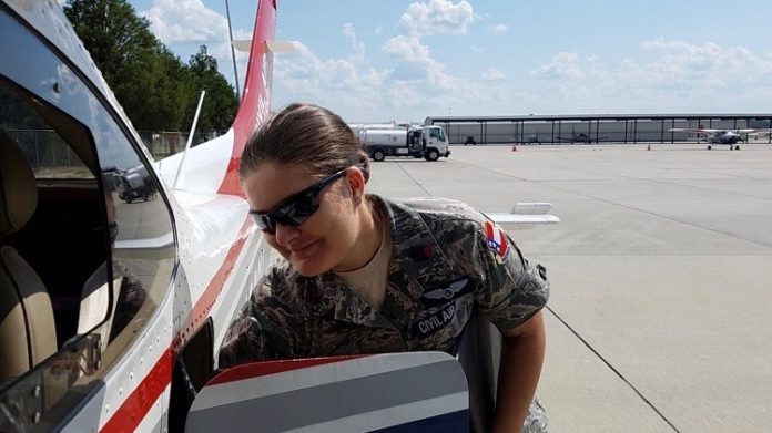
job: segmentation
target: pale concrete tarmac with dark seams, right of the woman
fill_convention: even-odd
[[[487,212],[548,268],[552,432],[772,431],[772,145],[453,146],[373,163],[369,190]]]

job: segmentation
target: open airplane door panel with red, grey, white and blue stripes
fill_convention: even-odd
[[[444,352],[266,361],[212,378],[186,432],[467,432],[467,380]]]

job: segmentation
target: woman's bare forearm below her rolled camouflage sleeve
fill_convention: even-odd
[[[545,359],[545,321],[541,310],[528,321],[504,332],[494,432],[520,432],[539,383]]]

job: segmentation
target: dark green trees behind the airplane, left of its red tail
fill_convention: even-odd
[[[238,106],[206,45],[187,63],[172,53],[126,0],[68,0],[64,13],[138,131],[226,131]]]

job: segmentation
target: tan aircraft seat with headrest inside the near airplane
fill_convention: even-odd
[[[16,141],[0,130],[0,383],[57,351],[51,299],[40,277],[4,239],[38,205],[34,174]]]

